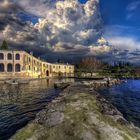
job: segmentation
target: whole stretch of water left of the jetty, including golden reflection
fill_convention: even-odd
[[[60,90],[54,89],[53,83],[52,79],[44,79],[29,84],[0,85],[0,140],[10,138],[59,95]]]

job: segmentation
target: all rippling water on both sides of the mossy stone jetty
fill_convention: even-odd
[[[62,79],[74,82],[74,79]],[[56,80],[37,80],[29,84],[0,84],[0,140],[7,140],[35,118],[38,111],[60,94],[53,88]],[[59,80],[60,81],[60,80]],[[124,117],[140,127],[140,80],[98,90],[120,110]]]

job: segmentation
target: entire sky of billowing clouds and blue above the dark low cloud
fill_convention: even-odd
[[[111,45],[140,50],[140,0],[79,1],[0,0],[0,38],[8,38],[12,47],[40,49],[44,56],[50,51],[69,58],[90,56],[108,52],[104,46]],[[109,43],[101,45],[102,36]]]

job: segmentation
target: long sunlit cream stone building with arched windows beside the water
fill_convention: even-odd
[[[74,76],[74,65],[52,64],[25,51],[0,50],[0,77],[45,78]]]

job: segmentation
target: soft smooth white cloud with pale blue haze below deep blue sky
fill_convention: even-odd
[[[104,36],[108,42],[119,49],[140,49],[140,41],[136,33],[139,28],[124,25],[106,26],[104,29]]]

